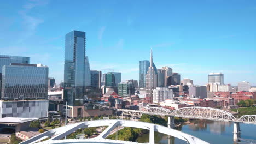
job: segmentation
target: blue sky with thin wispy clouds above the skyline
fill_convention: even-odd
[[[256,1],[1,1],[0,53],[30,56],[63,80],[65,34],[86,32],[90,68],[138,80],[153,49],[197,85],[222,72],[224,83],[256,85]]]

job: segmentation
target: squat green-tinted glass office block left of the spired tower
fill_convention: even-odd
[[[118,95],[122,97],[130,97],[134,94],[134,86],[131,82],[129,83],[119,83],[118,84]]]

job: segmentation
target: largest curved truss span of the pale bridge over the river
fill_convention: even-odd
[[[171,115],[183,118],[208,119],[214,121],[236,121],[229,112],[211,107],[183,107],[174,110]]]

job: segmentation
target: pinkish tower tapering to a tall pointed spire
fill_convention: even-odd
[[[147,71],[146,75],[146,97],[145,100],[148,103],[153,102],[153,90],[158,85],[158,75],[157,75],[157,69],[155,67],[155,64],[153,62],[153,53],[152,50],[150,52],[150,65]]]

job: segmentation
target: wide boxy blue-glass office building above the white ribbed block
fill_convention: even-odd
[[[11,65],[4,65],[2,72],[2,99],[47,98],[47,66],[11,63]]]

